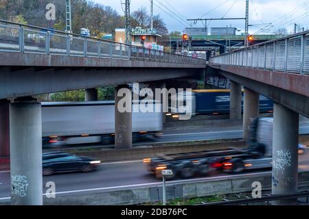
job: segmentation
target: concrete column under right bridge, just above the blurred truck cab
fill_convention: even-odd
[[[251,118],[259,116],[260,95],[253,90],[244,88],[244,121],[243,121],[243,138],[249,139],[249,129]]]

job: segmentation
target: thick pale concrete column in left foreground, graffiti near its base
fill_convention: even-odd
[[[10,104],[11,204],[43,205],[41,104]]]

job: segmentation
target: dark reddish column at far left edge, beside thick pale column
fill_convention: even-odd
[[[0,158],[10,155],[10,101],[0,101]]]

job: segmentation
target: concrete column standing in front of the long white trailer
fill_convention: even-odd
[[[128,86],[115,88],[115,149],[132,149],[132,92]]]

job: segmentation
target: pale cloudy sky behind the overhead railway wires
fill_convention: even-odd
[[[93,0],[104,5],[109,5],[119,12],[124,14],[122,10],[121,1],[125,0]],[[170,31],[183,31],[185,25],[190,26],[190,23],[185,21],[187,18],[202,18],[203,14],[213,10],[218,5],[222,4],[216,10],[203,16],[203,18],[225,18],[244,17],[245,14],[245,0],[153,0],[154,13],[160,14],[165,21]],[[307,0],[249,0],[249,23],[273,23],[275,29],[278,27],[286,27],[288,31],[293,31],[294,23],[300,24],[307,29],[309,22],[308,4]],[[172,7],[170,6],[172,5]],[[131,11],[137,10],[144,6],[150,11],[150,0],[131,0]],[[170,9],[172,12],[170,12]],[[231,6],[233,6],[231,8]],[[231,9],[230,9],[231,8]],[[230,10],[229,10],[230,9]],[[165,12],[163,11],[165,10]],[[167,13],[168,12],[168,13]],[[170,16],[172,15],[172,16]],[[175,19],[176,18],[176,19]],[[244,21],[211,21],[209,27],[238,27],[244,29]],[[202,27],[203,24],[198,22],[192,27]],[[255,34],[259,27],[265,25],[258,25],[250,27],[251,34]],[[268,25],[268,30],[273,31],[274,27]],[[268,32],[264,32],[268,33]],[[263,34],[262,32],[260,34]]]

